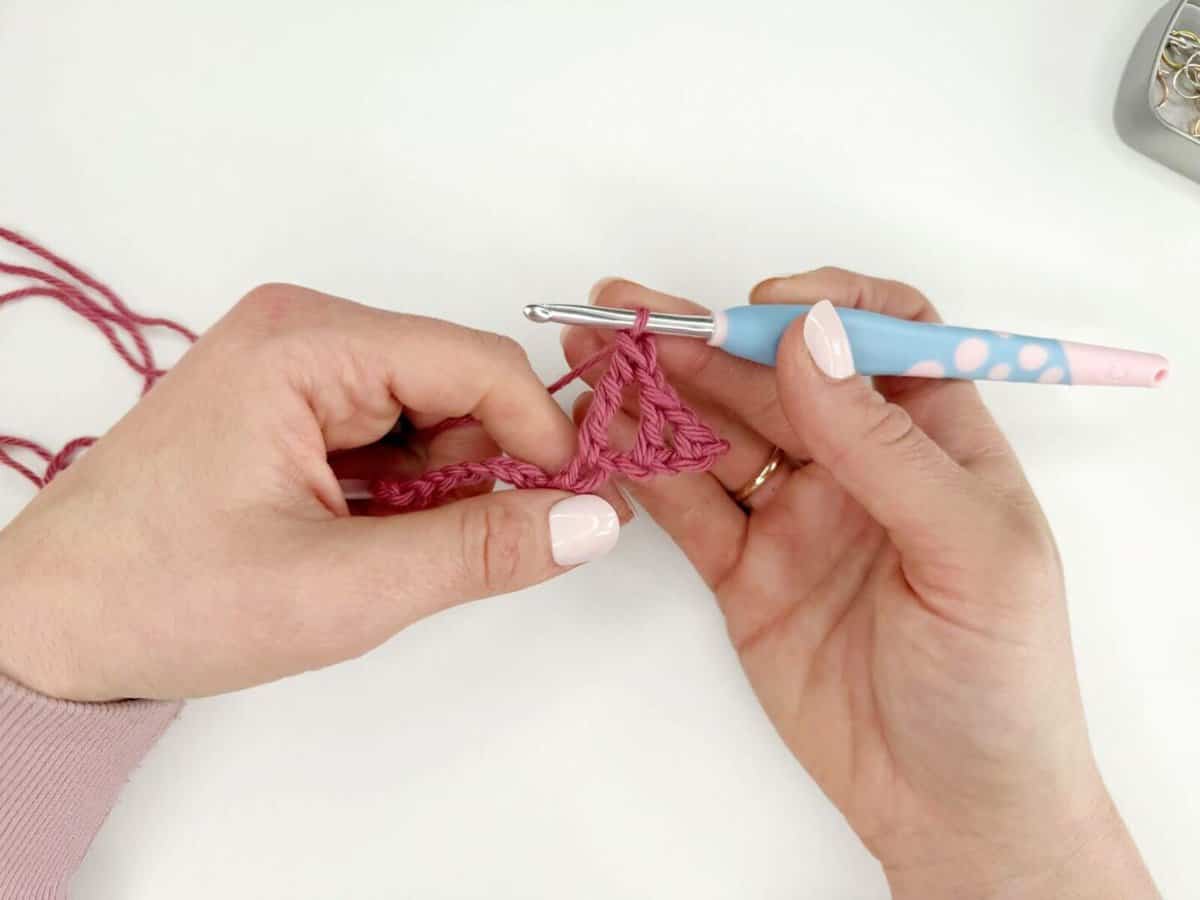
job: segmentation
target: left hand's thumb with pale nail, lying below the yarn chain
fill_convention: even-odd
[[[410,599],[413,618],[560,575],[611,551],[620,534],[605,499],[533,490],[342,523],[352,528],[344,540],[355,568],[401,576],[383,587]]]

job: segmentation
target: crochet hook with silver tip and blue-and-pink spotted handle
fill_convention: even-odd
[[[652,312],[646,330],[701,338],[734,356],[773,366],[779,338],[809,308],[763,304],[712,316]],[[631,328],[637,318],[634,310],[570,304],[532,304],[524,314],[530,322],[612,329]],[[1157,353],[910,322],[845,307],[838,316],[850,336],[854,368],[864,376],[1157,388],[1169,371]]]

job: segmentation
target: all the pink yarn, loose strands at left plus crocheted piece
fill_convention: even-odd
[[[62,304],[91,323],[125,364],[142,377],[143,394],[167,371],[155,361],[145,331],[164,328],[187,341],[196,340],[194,332],[176,322],[134,312],[112,288],[29,238],[0,228],[0,241],[34,254],[52,268],[52,271],[43,271],[0,262],[0,274],[29,280],[24,287],[0,293],[0,306],[29,298],[48,298]],[[552,474],[529,462],[497,456],[480,462],[452,463],[407,481],[379,479],[371,482],[372,496],[379,504],[401,511],[424,509],[445,499],[456,488],[485,481],[504,481],[517,488],[551,487],[592,493],[613,475],[647,479],[707,470],[728,450],[728,444],[701,422],[667,384],[659,368],[654,336],[646,331],[647,318],[647,311],[642,310],[632,329],[618,332],[612,344],[548,386],[554,394],[608,361],[608,368],[595,385],[592,406],[580,425],[578,450],[559,472]],[[608,432],[628,388],[638,390],[640,416],[634,445],[618,451],[611,446]],[[426,433],[472,424],[475,422],[469,416],[448,419]],[[0,434],[0,464],[24,475],[36,487],[44,487],[95,440],[91,437],[74,438],[53,452],[34,440]],[[32,452],[42,461],[42,472],[23,464],[5,448]]]

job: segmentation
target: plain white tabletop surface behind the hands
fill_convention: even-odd
[[[0,221],[204,328],[288,280],[506,331],[622,274],[710,305],[824,263],[967,325],[1156,349],[1162,391],[986,385],[1055,523],[1097,752],[1200,890],[1200,186],[1123,146],[1154,2],[0,0]],[[170,348],[168,348],[170,350]],[[134,378],[0,314],[0,425]],[[0,478],[0,516],[28,499]],[[148,559],[146,564],[154,564]],[[400,564],[400,557],[397,557]],[[79,898],[882,898],[644,518],[605,562],[190,704]]]

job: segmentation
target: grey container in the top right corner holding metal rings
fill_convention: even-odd
[[[1176,98],[1164,110],[1154,108],[1162,97],[1156,78],[1159,58],[1175,29],[1200,34],[1200,0],[1172,0],[1142,31],[1121,79],[1114,121],[1134,150],[1200,181],[1200,138],[1188,133],[1200,118],[1200,106],[1189,109]]]

